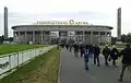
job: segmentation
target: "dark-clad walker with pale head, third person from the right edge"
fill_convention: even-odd
[[[104,55],[104,58],[105,58],[105,66],[109,67],[108,58],[110,56],[110,49],[108,48],[108,45],[106,45],[106,47],[104,48],[103,55]]]

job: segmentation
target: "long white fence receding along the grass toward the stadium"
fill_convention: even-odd
[[[43,55],[56,46],[34,48],[23,51],[17,51],[13,54],[7,54],[0,56],[0,74],[14,69],[23,63],[26,63],[36,56]]]

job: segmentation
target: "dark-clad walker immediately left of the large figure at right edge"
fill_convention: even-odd
[[[117,67],[117,66],[116,66],[116,60],[117,60],[118,57],[119,57],[119,51],[118,51],[118,49],[117,49],[116,46],[112,46],[112,49],[111,49],[111,52],[110,52],[110,57],[111,57],[111,59],[112,59],[112,66]]]

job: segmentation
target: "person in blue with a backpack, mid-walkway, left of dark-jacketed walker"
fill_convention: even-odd
[[[88,45],[85,45],[84,48],[84,63],[85,63],[85,70],[88,70],[88,57],[91,55],[91,48]]]

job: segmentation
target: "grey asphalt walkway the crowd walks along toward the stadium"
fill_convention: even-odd
[[[100,57],[100,67],[94,66],[93,59],[90,59],[90,70],[84,70],[84,61],[81,57],[74,57],[69,50],[61,50],[61,73],[60,83],[119,83],[121,63],[118,68],[104,64],[104,58]],[[122,83],[131,83],[129,72],[126,72]]]

